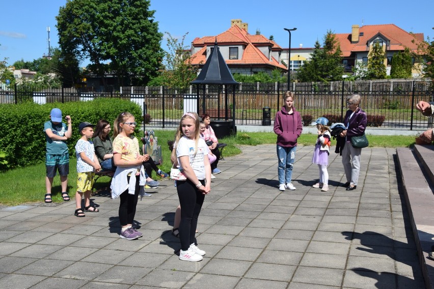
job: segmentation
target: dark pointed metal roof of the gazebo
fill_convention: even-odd
[[[217,41],[215,41],[214,49],[198,77],[191,84],[239,84],[233,78],[225,59],[220,53]]]

